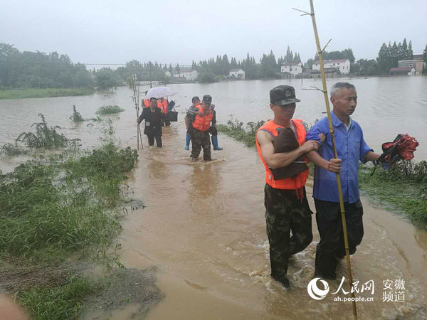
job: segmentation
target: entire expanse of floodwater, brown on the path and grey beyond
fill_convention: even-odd
[[[336,80],[328,81],[330,87]],[[351,81],[359,103],[353,118],[364,129],[367,143],[380,151],[382,142],[398,133],[418,139],[416,160],[427,159],[427,79],[370,78]],[[170,85],[177,92],[179,122],[165,128],[164,147],[139,151],[137,169],[130,174],[134,198],[145,208],[123,220],[118,241],[125,267],[157,267],[157,285],[165,299],[147,319],[350,319],[349,294],[339,289],[347,267],[342,262],[330,292],[317,301],[307,294],[314,273],[315,246],[319,241],[313,217],[313,242],[290,261],[292,289],[284,291],[270,279],[268,240],[263,205],[264,172],[255,149],[219,136],[223,151],[213,151],[211,163],[189,161],[184,150],[184,112],[194,95],[210,94],[219,123],[229,114],[243,121],[271,117],[268,90],[289,81],[221,82],[214,85]],[[295,117],[315,122],[324,116],[322,95],[311,90],[320,81],[290,82],[302,100]],[[147,90],[147,89],[145,89]],[[59,125],[83,147],[100,144],[104,134],[97,122],[73,124],[73,105],[85,118],[95,117],[102,105],[125,109],[112,116],[117,142],[136,148],[135,107],[132,92],[121,87],[109,95],[0,100],[0,144],[28,131],[38,114],[50,125]],[[103,117],[107,121],[107,117]],[[0,169],[11,171],[23,157],[1,158]],[[312,181],[308,181],[310,206]],[[413,227],[403,215],[364,203],[364,240],[352,256],[354,279],[359,288],[373,280],[372,290],[356,293],[359,319],[424,319],[427,316],[427,232]],[[404,280],[404,289],[396,280]],[[386,287],[390,285],[391,289]],[[401,283],[401,282],[400,282]],[[347,292],[347,284],[344,285]],[[334,292],[337,292],[334,294]],[[391,292],[391,293],[390,293]],[[391,301],[390,300],[391,295]],[[341,301],[338,301],[339,299]],[[135,306],[120,310],[113,319],[130,319]]]

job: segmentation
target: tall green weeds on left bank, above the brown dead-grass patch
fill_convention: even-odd
[[[28,161],[0,181],[0,254],[50,260],[110,245],[121,184],[137,151],[105,144],[79,157]]]

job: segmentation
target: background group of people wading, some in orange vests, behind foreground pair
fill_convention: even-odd
[[[167,117],[169,102],[167,99],[151,97],[149,100],[143,100],[144,109],[138,117],[138,124],[145,120],[144,134],[148,137],[149,146],[154,145],[154,139],[157,146],[162,146],[162,125],[169,126],[170,121]],[[203,148],[204,161],[211,161],[211,142],[214,150],[222,150],[218,146],[218,131],[216,129],[216,112],[215,105],[212,104],[212,97],[204,95],[200,102],[199,97],[193,97],[191,107],[186,113],[186,145],[185,149],[189,150],[191,142],[191,161],[199,158]]]

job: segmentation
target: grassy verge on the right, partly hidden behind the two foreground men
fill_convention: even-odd
[[[255,134],[263,122],[249,122],[246,126],[237,119],[218,124],[218,132],[255,146]],[[359,170],[359,186],[362,192],[379,201],[390,210],[405,213],[414,223],[427,226],[427,162],[399,161],[389,171],[362,165]]]

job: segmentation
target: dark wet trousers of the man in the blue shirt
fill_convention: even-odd
[[[345,257],[344,235],[339,203],[315,199],[317,229],[320,242],[317,244],[315,275],[335,279],[338,260]],[[362,202],[344,202],[350,255],[356,252],[363,238]]]

